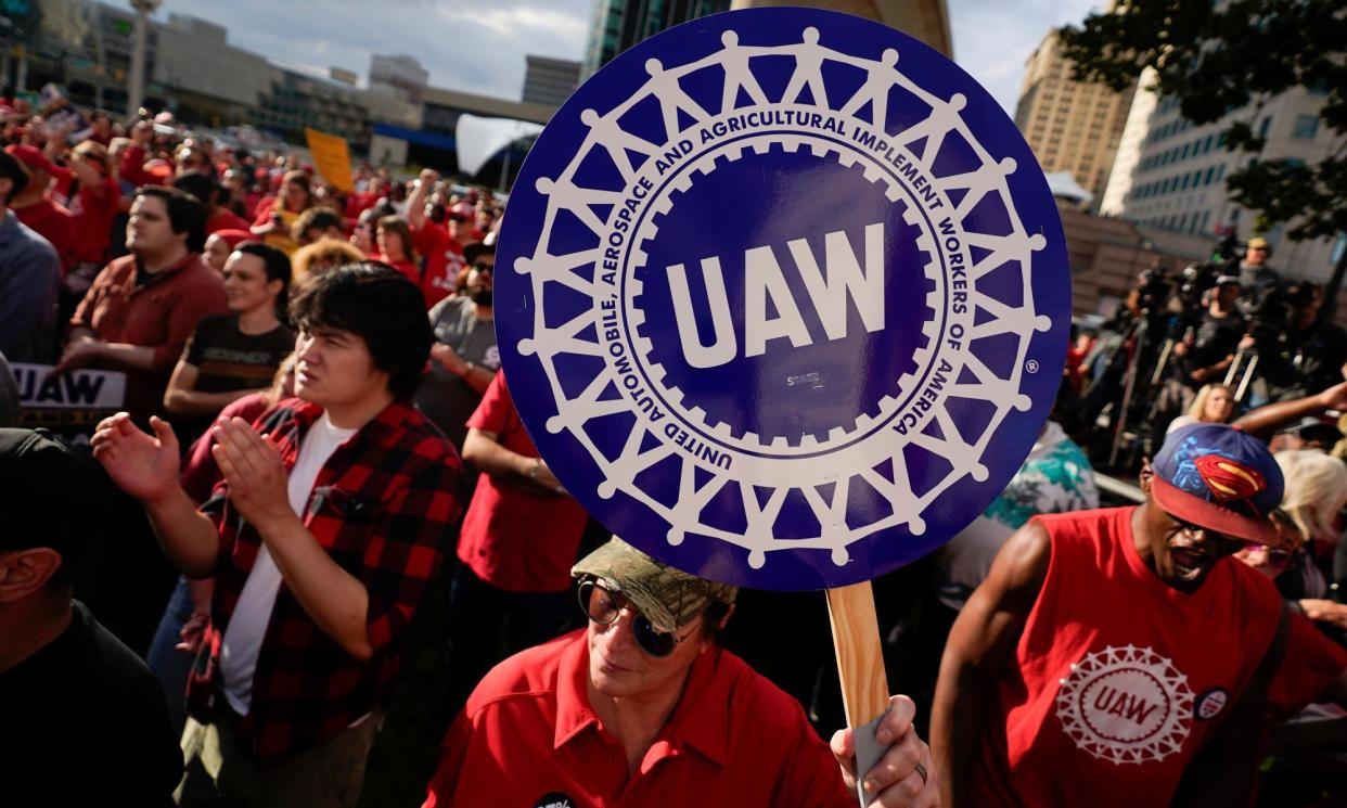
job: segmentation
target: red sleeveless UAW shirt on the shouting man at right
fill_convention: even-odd
[[[1134,512],[1037,517],[1052,560],[970,804],[1168,805],[1258,668],[1282,610],[1272,582],[1231,558],[1192,594],[1167,586],[1133,545]]]

